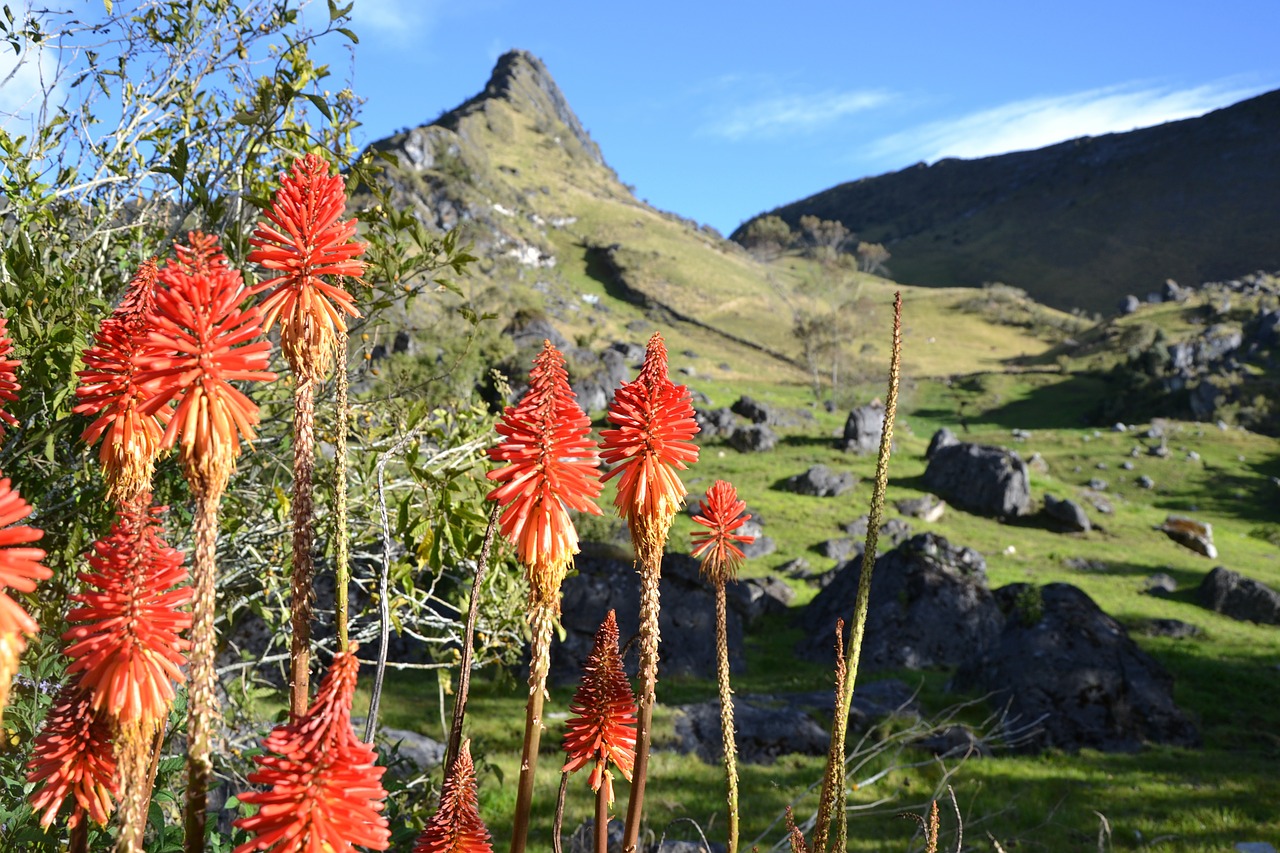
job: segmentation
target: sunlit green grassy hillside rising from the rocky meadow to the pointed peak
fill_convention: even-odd
[[[1280,588],[1280,520],[1274,511],[1280,493],[1272,479],[1280,476],[1280,443],[1234,428],[1170,421],[1167,459],[1133,457],[1133,447],[1144,443],[1135,433],[1098,430],[1084,418],[1111,393],[1103,374],[1125,357],[1132,329],[1147,323],[1169,334],[1194,332],[1199,327],[1187,313],[1193,306],[1151,306],[1091,328],[1007,288],[933,287],[948,280],[936,269],[922,268],[900,284],[799,254],[760,263],[714,232],[636,200],[572,118],[545,68],[526,54],[504,56],[484,95],[379,147],[401,156],[402,165],[390,173],[399,204],[435,227],[461,224],[475,242],[483,261],[465,292],[472,305],[498,315],[492,328],[500,330],[517,310],[536,313],[586,347],[643,342],[658,329],[667,338],[673,375],[710,406],[750,394],[803,412],[797,421],[805,425],[781,429],[778,447],[767,453],[739,453],[721,439],[704,441],[701,461],[686,476],[695,493],[717,478],[731,479],[764,517],[778,549],[748,562],[748,575],[774,574],[796,557],[826,567],[831,561],[822,557],[820,544],[842,535],[841,526],[867,511],[873,460],[837,451],[833,437],[851,402],[883,393],[892,293],[901,289],[905,380],[890,503],[922,493],[923,452],[943,425],[969,441],[1012,446],[1024,456],[1038,452],[1047,469],[1033,474],[1037,501],[1046,493],[1075,498],[1091,478],[1107,479],[1115,511],[1091,511],[1097,526],[1088,534],[1053,533],[1033,521],[1001,524],[955,508],[936,524],[911,525],[977,548],[992,585],[1066,581],[1084,589],[1169,669],[1176,702],[1204,739],[1203,749],[970,761],[950,777],[969,844],[1094,849],[1103,824],[1115,849],[1220,850],[1242,840],[1280,843],[1274,809],[1280,802],[1274,772],[1280,760],[1274,735],[1280,730],[1280,633],[1208,612],[1193,594],[1217,562]],[[1023,214],[1029,216],[1029,210]],[[896,263],[899,248],[893,251],[895,269],[904,273],[909,268]],[[442,329],[448,300],[420,302],[406,323]],[[804,341],[792,332],[801,318],[829,321],[838,330],[835,345],[806,359]],[[443,337],[420,334],[413,357],[434,364],[443,346]],[[511,352],[500,333],[490,346],[493,353]],[[828,409],[826,402],[835,405]],[[1030,437],[1015,439],[1014,429]],[[1133,470],[1123,469],[1126,461]],[[860,484],[836,500],[778,488],[780,480],[817,462],[851,470]],[[1156,487],[1139,488],[1142,475]],[[602,506],[611,498],[607,492]],[[1220,560],[1207,561],[1156,533],[1152,528],[1169,512],[1212,523]],[[618,523],[604,519],[584,526],[604,535],[611,525]],[[690,528],[687,519],[677,520],[672,548],[686,548]],[[1157,571],[1171,575],[1179,592],[1170,598],[1144,594],[1144,579]],[[787,583],[796,607],[815,594],[801,581]],[[1157,617],[1180,619],[1203,633],[1185,640],[1143,634],[1146,621]],[[828,671],[795,660],[801,630],[792,613],[748,637],[749,666],[736,690],[829,689]],[[978,698],[950,693],[946,671],[864,678],[884,675],[918,684],[931,715]],[[671,704],[713,694],[710,683],[659,681],[659,702],[667,707],[658,713],[657,744],[672,742]],[[543,739],[547,767],[556,762],[568,695],[568,689],[552,693]],[[509,674],[484,674],[468,717],[483,767],[481,808],[499,843],[509,831],[515,802],[524,698],[524,685]],[[384,698],[384,722],[440,736],[438,701],[434,681],[396,675]],[[986,713],[975,707],[961,719],[978,724]],[[910,849],[914,826],[895,815],[919,811],[955,770],[923,753],[910,754],[922,765],[854,792],[854,804],[865,813],[852,824],[851,849]],[[760,849],[769,849],[782,836],[778,818],[787,803],[801,816],[812,812],[809,786],[819,779],[820,765],[818,758],[790,756],[767,767],[745,766],[744,840],[760,836]],[[883,761],[872,762],[863,779],[882,767]],[[652,772],[655,831],[669,827],[692,838],[687,825],[673,824],[690,818],[718,838],[718,766],[663,749]],[[535,849],[549,849],[557,781],[553,772],[539,780]],[[581,785],[571,790],[566,825],[576,826],[589,803]],[[618,795],[626,797],[625,785]],[[954,847],[950,815],[943,826]]]

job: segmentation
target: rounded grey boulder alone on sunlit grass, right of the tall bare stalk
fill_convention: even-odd
[[[963,510],[993,517],[1032,512],[1027,465],[1012,451],[986,444],[940,447],[924,469],[924,485]]]

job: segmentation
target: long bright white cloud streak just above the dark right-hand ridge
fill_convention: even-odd
[[[1025,151],[1082,136],[1132,131],[1193,118],[1266,91],[1235,82],[1193,88],[1130,83],[1073,95],[1032,97],[929,122],[873,142],[873,159],[895,163],[983,158]]]

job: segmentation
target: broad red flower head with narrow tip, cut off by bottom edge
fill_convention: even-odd
[[[276,726],[253,758],[259,770],[248,780],[271,790],[241,794],[259,807],[236,826],[256,838],[236,853],[351,853],[365,847],[385,850],[390,843],[387,817],[380,815],[387,792],[375,766],[372,747],[351,727],[351,699],[356,692],[356,644],[333,658],[316,699],[293,722]]]

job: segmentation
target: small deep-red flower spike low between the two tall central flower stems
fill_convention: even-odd
[[[618,620],[611,610],[595,631],[595,644],[582,665],[582,684],[573,694],[570,719],[564,730],[564,772],[571,774],[594,761],[591,790],[604,792],[613,804],[612,762],[622,777],[631,781],[636,751],[636,701],[631,683],[622,671],[618,652]]]

